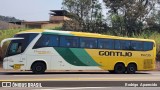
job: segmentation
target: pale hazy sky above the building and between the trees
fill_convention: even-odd
[[[0,15],[26,21],[48,21],[50,10],[59,10],[63,0],[1,0]],[[100,0],[102,2],[102,0]],[[103,9],[105,6],[102,6]],[[104,10],[103,10],[104,11]],[[106,13],[105,11],[103,12]]]

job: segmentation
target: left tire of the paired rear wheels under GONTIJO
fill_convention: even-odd
[[[122,63],[117,63],[114,67],[114,72],[116,74],[123,74],[126,72],[126,67]]]

